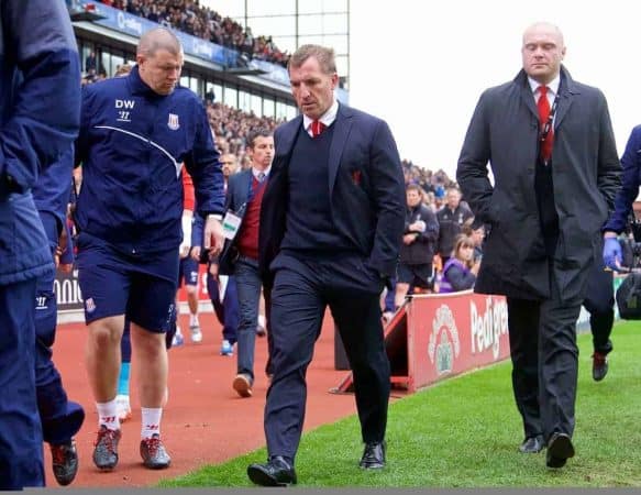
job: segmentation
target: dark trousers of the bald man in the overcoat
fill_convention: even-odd
[[[508,297],[512,388],[526,437],[572,437],[578,375],[576,319],[582,299],[563,300],[554,271],[551,297]]]

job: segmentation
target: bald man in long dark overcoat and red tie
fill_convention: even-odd
[[[574,455],[575,322],[620,164],[606,99],[562,66],[559,28],[530,26],[521,54],[517,77],[482,95],[456,177],[491,226],[475,290],[507,296],[520,450],[546,446],[548,466],[562,468]]]

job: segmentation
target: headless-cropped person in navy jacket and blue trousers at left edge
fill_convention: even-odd
[[[0,3],[0,491],[44,486],[35,293],[54,263],[32,189],[78,133],[80,67],[62,0]]]

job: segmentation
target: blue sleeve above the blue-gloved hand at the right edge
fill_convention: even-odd
[[[632,210],[632,202],[639,194],[641,175],[641,125],[632,129],[621,164],[623,166],[622,186],[615,196],[615,211],[604,227],[604,231],[621,233],[628,226],[628,216]]]

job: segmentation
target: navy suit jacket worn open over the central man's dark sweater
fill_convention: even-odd
[[[343,105],[333,125],[328,184],[332,220],[366,263],[388,277],[396,271],[406,209],[396,143],[383,120]],[[276,155],[261,209],[259,263],[266,285],[285,234],[289,162],[301,127],[298,116],[274,134]]]

